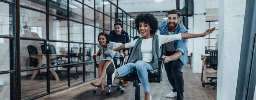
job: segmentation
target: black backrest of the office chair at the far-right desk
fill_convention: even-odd
[[[214,70],[218,69],[218,50],[210,51],[210,65]]]

